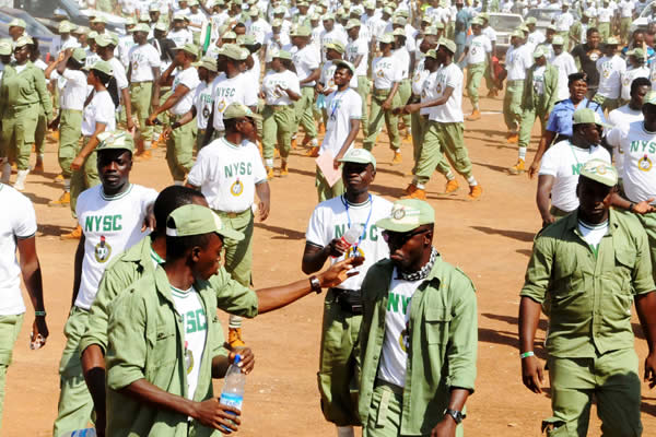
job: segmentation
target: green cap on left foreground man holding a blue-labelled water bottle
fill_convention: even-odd
[[[207,206],[186,204],[173,211],[166,218],[167,237],[190,237],[212,233],[236,241],[244,239],[244,234],[226,226],[221,217]]]

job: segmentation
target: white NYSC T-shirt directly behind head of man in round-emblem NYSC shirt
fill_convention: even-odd
[[[257,84],[253,83],[249,74],[239,73],[227,79],[220,74],[212,82],[212,96],[214,101],[214,129],[222,131],[223,111],[231,103],[241,103],[245,106],[257,106]]]

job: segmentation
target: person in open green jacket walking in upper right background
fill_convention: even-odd
[[[522,96],[522,122],[519,127],[518,163],[526,162],[526,151],[530,142],[536,118],[540,120],[541,135],[544,134],[549,114],[558,99],[558,69],[547,63],[547,54],[542,47],[534,51],[536,63],[526,71],[524,94]],[[511,175],[518,175],[518,164],[508,168]]]

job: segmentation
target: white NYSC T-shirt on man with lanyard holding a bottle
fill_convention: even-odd
[[[331,263],[351,257],[355,250],[358,250],[360,256],[364,257],[363,264],[354,268],[360,274],[347,279],[338,286],[339,288],[360,290],[370,267],[389,257],[389,247],[380,235],[382,229],[378,229],[376,222],[389,216],[390,211],[391,202],[375,194],[372,194],[371,201],[367,200],[362,204],[350,204],[343,196],[338,196],[319,203],[315,208],[307,224],[305,239],[311,245],[317,247],[326,247],[333,238],[341,238],[349,231],[350,226],[354,224],[366,224],[362,233],[362,238],[356,245],[358,248],[351,246],[341,257],[330,257]],[[370,213],[371,217],[367,223]]]

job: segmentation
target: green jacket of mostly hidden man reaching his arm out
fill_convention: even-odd
[[[82,336],[80,352],[84,352],[92,344],[107,350],[107,322],[114,299],[142,276],[154,274],[151,244],[150,236],[142,238],[113,260],[105,270],[98,293],[89,310],[86,332]],[[219,309],[248,318],[257,316],[257,294],[233,281],[223,267],[210,277],[209,284],[215,291]]]

